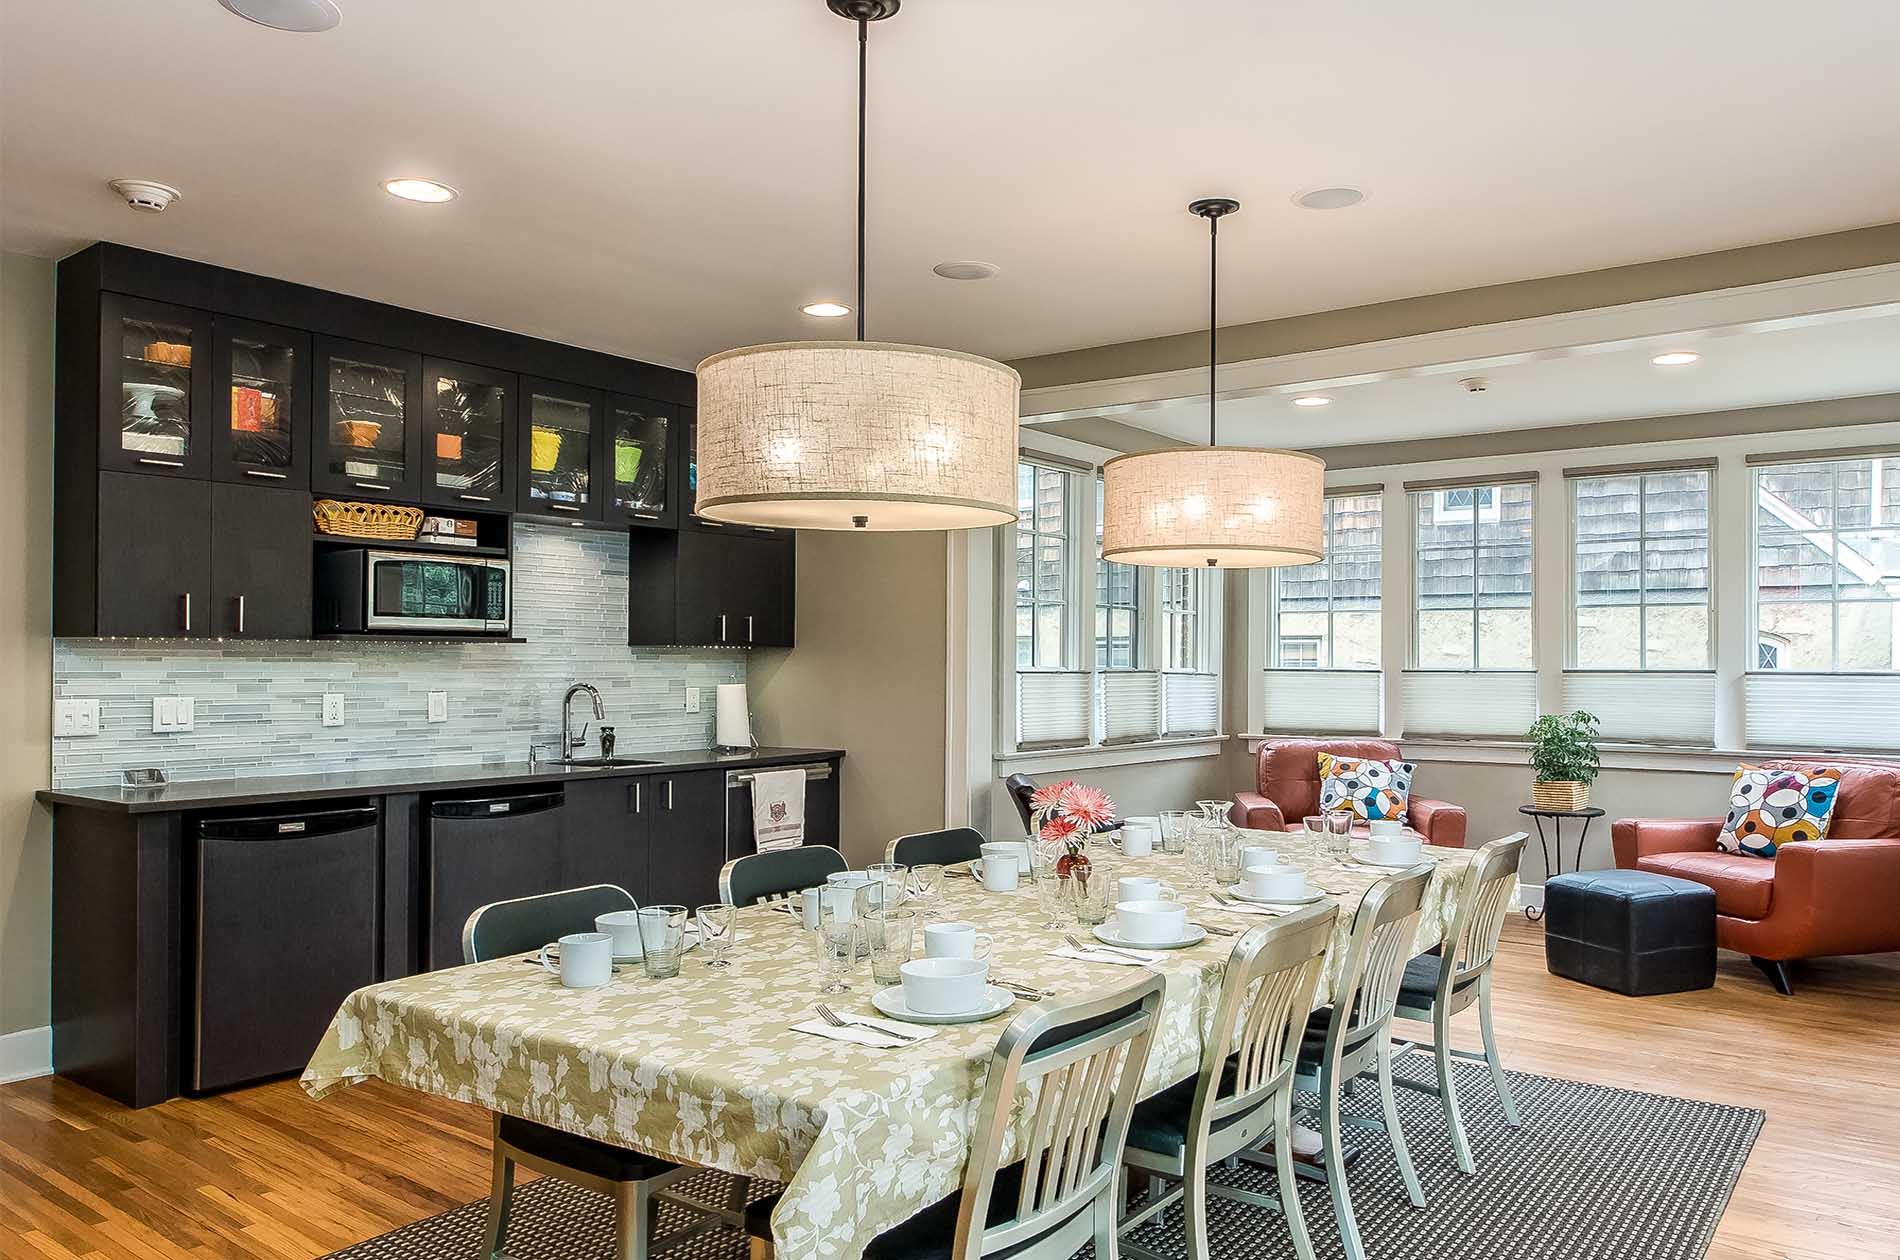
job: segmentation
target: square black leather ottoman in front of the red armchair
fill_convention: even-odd
[[[1632,998],[1716,983],[1716,889],[1649,870],[1579,870],[1545,884],[1550,975]]]

